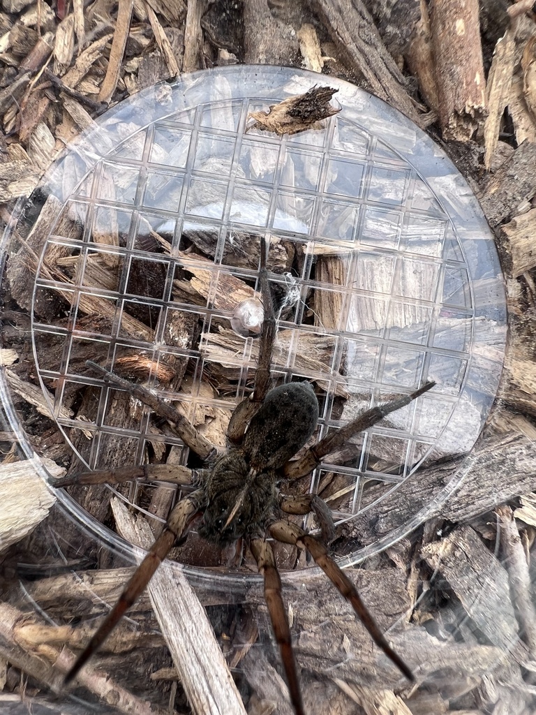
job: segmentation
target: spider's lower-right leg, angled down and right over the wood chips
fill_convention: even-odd
[[[322,568],[322,571],[324,571],[327,578],[329,578],[329,581],[331,581],[339,593],[351,603],[352,608],[354,608],[355,613],[357,613],[357,616],[361,619],[364,627],[367,628],[374,643],[384,651],[384,654],[392,660],[408,680],[414,681],[415,676],[412,674],[412,671],[402,658],[393,651],[391,646],[389,646],[382,631],[379,630],[376,621],[374,621],[371,613],[369,613],[367,607],[361,600],[357,588],[355,588],[344,571],[342,571],[331,556],[329,556],[324,544],[297,526],[297,524],[292,524],[289,521],[274,521],[269,526],[269,533],[274,539],[277,539],[277,541],[290,543],[292,546],[299,546],[299,548],[307,548],[307,551],[309,551],[318,566]]]

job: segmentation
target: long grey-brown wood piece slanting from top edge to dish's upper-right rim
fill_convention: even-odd
[[[407,82],[382,43],[374,21],[361,0],[314,0],[349,69],[362,74],[372,92],[419,123],[407,94]]]

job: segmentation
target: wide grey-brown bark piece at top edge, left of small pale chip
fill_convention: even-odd
[[[247,64],[289,64],[299,55],[296,31],[272,15],[267,0],[244,3],[244,51]]]

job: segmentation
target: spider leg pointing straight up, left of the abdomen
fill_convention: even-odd
[[[259,362],[257,370],[255,370],[253,398],[245,398],[242,400],[229,420],[227,437],[234,445],[242,443],[247,425],[259,409],[262,400],[266,397],[270,384],[270,365],[272,364],[272,351],[277,333],[277,321],[275,319],[274,302],[268,282],[268,270],[266,267],[267,250],[267,242],[264,236],[261,236],[259,280],[261,284],[264,317],[262,319],[261,335],[259,337]]]

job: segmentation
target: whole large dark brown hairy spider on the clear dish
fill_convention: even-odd
[[[196,487],[173,508],[161,536],[154,542],[124,588],[119,601],[66,675],[66,683],[74,679],[86,661],[99,649],[127,608],[144,591],[172,546],[186,538],[194,521],[199,534],[207,541],[223,546],[243,540],[252,551],[259,571],[264,576],[264,596],[296,715],[304,715],[302,696],[289,622],[281,595],[281,580],[268,537],[307,549],[342,596],[352,604],[375,643],[407,679],[414,679],[410,668],[392,650],[379,631],[352,581],[329,556],[326,544],[334,538],[334,524],[329,507],[314,494],[285,495],[279,490],[279,484],[282,480],[293,480],[307,475],[319,465],[325,455],[340,448],[352,435],[372,427],[385,415],[409,404],[435,383],[426,383],[410,395],[404,395],[362,413],[352,422],[319,440],[305,451],[302,458],[290,461],[314,433],[319,407],[310,383],[287,383],[269,390],[277,322],[268,282],[266,254],[267,246],[263,238],[259,278],[264,319],[259,338],[259,364],[254,377],[254,391],[251,398],[239,403],[231,416],[227,428],[229,446],[224,454],[216,455],[212,445],[197,433],[191,423],[149,390],[109,373],[96,363],[89,363],[104,374],[107,382],[129,390],[132,395],[153,408],[159,416],[174,423],[184,443],[210,464],[202,470],[148,465],[114,472],[86,472],[54,483],[56,486],[73,483],[119,483],[123,480],[148,477],[192,484]],[[282,512],[295,515],[314,513],[322,538],[311,536],[297,524],[282,519]]]

